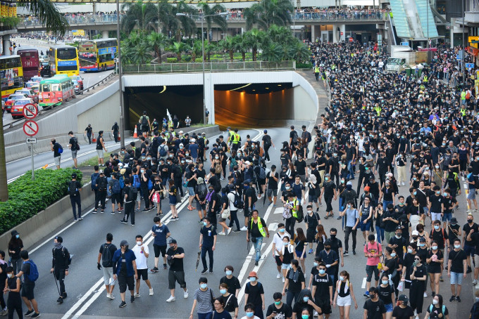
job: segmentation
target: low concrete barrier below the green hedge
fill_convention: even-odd
[[[83,185],[80,191],[82,198],[82,209],[94,204],[95,196],[90,187],[90,183]],[[37,244],[42,238],[46,237],[53,230],[65,225],[73,218],[72,207],[70,204],[70,195],[63,197],[58,202],[46,207],[32,218],[20,223],[20,225],[8,230],[3,235],[0,235],[0,249],[8,252],[8,242],[11,239],[11,231],[13,229],[20,233],[20,238],[23,240],[23,249],[30,249]],[[8,255],[6,256],[8,258]]]

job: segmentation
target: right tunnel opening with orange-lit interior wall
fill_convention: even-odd
[[[238,128],[285,126],[294,119],[292,83],[217,84],[215,122]]]

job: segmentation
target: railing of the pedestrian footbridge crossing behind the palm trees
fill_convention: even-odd
[[[124,15],[120,15],[120,20]],[[243,13],[228,13],[225,15],[227,21],[246,22]],[[97,24],[113,24],[116,23],[116,15],[75,15],[66,16],[69,25],[97,25]],[[200,21],[201,18],[194,18]],[[315,22],[354,22],[354,21],[368,21],[368,20],[386,20],[386,13],[384,12],[367,12],[367,11],[347,11],[347,12],[304,12],[294,13],[291,15],[291,20],[295,22],[301,21],[315,21]],[[40,27],[42,22],[35,17],[25,18],[18,22],[17,27]]]

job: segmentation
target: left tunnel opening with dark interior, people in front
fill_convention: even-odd
[[[156,118],[161,125],[166,110],[171,117],[175,115],[182,121],[187,116],[192,119],[192,124],[203,121],[203,86],[135,86],[125,88],[125,122],[130,129],[135,128],[143,111],[151,122]]]

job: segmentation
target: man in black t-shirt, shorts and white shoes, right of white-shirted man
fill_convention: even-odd
[[[166,302],[175,301],[175,285],[176,282],[183,289],[183,297],[188,298],[188,289],[185,282],[185,268],[183,268],[183,259],[185,259],[185,249],[178,247],[178,242],[174,239],[170,239],[168,242],[170,248],[166,251],[166,259],[168,265],[170,265],[170,271],[168,271],[168,288],[170,289],[170,297],[166,299]]]

